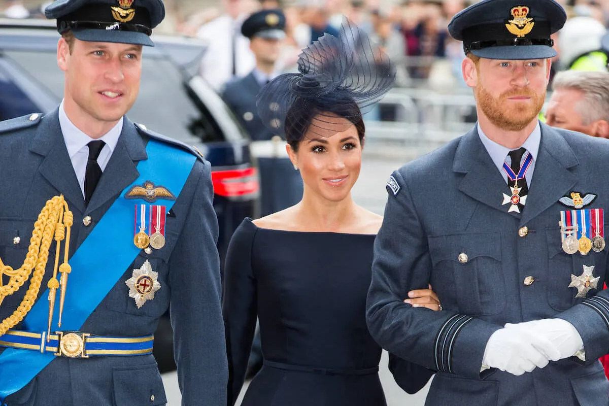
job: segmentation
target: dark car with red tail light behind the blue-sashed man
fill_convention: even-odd
[[[0,121],[53,110],[63,98],[57,67],[55,23],[0,19]],[[153,36],[144,47],[138,99],[129,118],[150,130],[194,145],[212,165],[214,209],[219,223],[220,264],[234,229],[258,210],[258,173],[248,136],[228,107],[195,75],[205,45],[196,40]],[[175,368],[168,318],[155,334],[161,372]]]

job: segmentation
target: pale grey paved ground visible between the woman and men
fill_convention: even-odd
[[[411,154],[407,150],[403,150],[404,159],[401,158],[400,150],[393,150],[390,154],[391,158],[387,158],[389,154],[379,153],[378,149],[371,147],[370,152],[364,152],[364,161],[362,163],[362,172],[359,180],[353,187],[353,198],[359,205],[365,208],[382,214],[384,211],[385,201],[387,200],[387,192],[385,191],[385,183],[393,170],[398,169],[403,163],[410,158]],[[385,389],[387,404],[389,406],[423,406],[428,387],[421,390],[415,395],[404,393],[395,382],[389,370],[387,369],[387,354],[383,354],[381,360],[381,382]],[[167,397],[169,399],[168,406],[180,406],[180,391],[177,387],[177,379],[175,373],[166,374],[163,376]],[[243,393],[243,391],[242,391]]]

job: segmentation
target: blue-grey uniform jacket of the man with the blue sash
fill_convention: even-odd
[[[4,264],[14,268],[23,264],[38,213],[49,198],[59,194],[64,195],[74,213],[70,247],[70,253],[74,253],[121,191],[138,177],[136,164],[147,159],[145,143],[149,138],[180,147],[125,117],[116,149],[89,205],[85,206],[63,141],[58,110],[33,121],[26,116],[0,122],[0,257]],[[182,404],[191,406],[224,406],[228,379],[215,243],[217,219],[210,177],[209,163],[197,159],[167,215],[166,245],[152,254],[142,250],[81,329],[94,335],[151,335],[161,315],[169,309]],[[83,223],[85,216],[92,219],[88,226]],[[15,236],[21,237],[17,244],[13,243]],[[113,244],[111,235],[107,243]],[[54,247],[53,243],[39,300],[47,300],[42,292],[52,274]],[[125,281],[146,260],[158,272],[161,289],[138,309],[135,300],[128,296]],[[93,256],[91,261],[104,258]],[[73,269],[72,273],[86,271]],[[91,275],[91,281],[94,284],[96,278],[102,277]],[[26,282],[18,292],[4,299],[0,320],[16,309],[28,287]],[[67,294],[86,295],[86,292],[71,291],[68,283]],[[69,309],[64,310],[64,317],[67,312]],[[13,328],[25,330],[27,326],[21,323]],[[152,406],[164,405],[166,397],[153,355],[57,357],[26,387],[7,397],[6,403]]]

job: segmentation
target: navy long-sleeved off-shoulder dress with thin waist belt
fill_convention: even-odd
[[[384,406],[381,348],[365,302],[375,236],[258,228],[245,219],[225,266],[228,404],[236,401],[259,318],[264,366],[243,406]],[[400,387],[420,390],[432,371],[393,357]]]

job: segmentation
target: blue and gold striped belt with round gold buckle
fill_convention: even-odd
[[[0,335],[0,346],[52,352],[58,357],[88,358],[104,355],[152,354],[153,335],[145,337],[102,337],[80,331],[46,332],[9,330]]]

